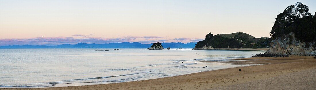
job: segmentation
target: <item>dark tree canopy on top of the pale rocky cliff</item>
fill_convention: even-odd
[[[283,13],[276,16],[270,36],[276,38],[293,32],[299,40],[306,42],[315,41],[316,16],[313,16],[308,11],[307,5],[301,2],[288,6]]]

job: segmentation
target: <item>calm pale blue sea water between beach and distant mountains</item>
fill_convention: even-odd
[[[240,50],[94,50],[0,49],[0,87],[61,87],[155,79],[240,67],[243,65],[198,61],[231,61],[264,53]]]

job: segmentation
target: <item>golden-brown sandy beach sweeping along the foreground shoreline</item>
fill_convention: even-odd
[[[48,87],[1,88],[5,90],[104,90],[104,89],[315,89],[316,59],[313,57],[251,57],[225,63],[264,64],[205,71],[187,75],[111,84]],[[211,63],[211,62],[208,62]],[[241,71],[239,71],[241,69]]]

